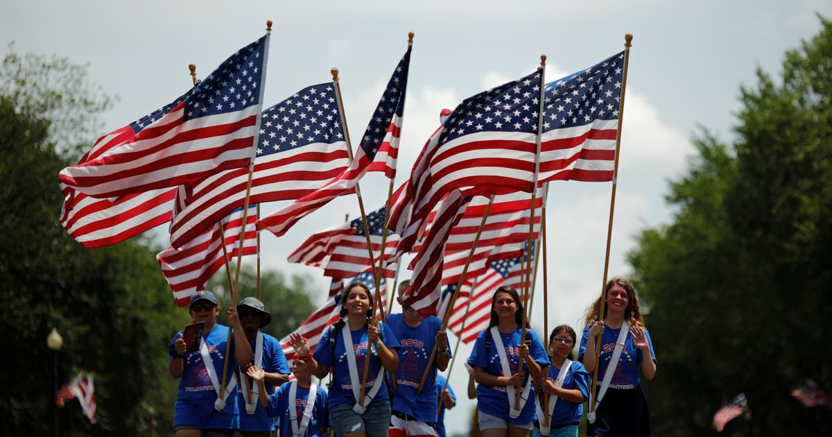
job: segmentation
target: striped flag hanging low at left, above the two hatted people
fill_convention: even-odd
[[[243,255],[255,255],[257,253],[256,205],[249,206],[248,216],[251,220],[246,221],[245,225]],[[191,301],[191,295],[205,290],[210,277],[222,268],[225,263],[222,251],[223,241],[225,241],[225,250],[228,251],[229,260],[239,253],[238,241],[242,217],[243,208],[239,208],[223,219],[225,236],[220,235],[220,226],[214,223],[211,229],[189,241],[180,249],[177,250],[171,246],[156,255],[162,275],[171,286],[176,305],[187,306]]]

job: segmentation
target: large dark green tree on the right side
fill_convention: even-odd
[[[656,434],[716,434],[740,392],[751,417],[733,435],[825,435],[824,407],[790,391],[832,385],[825,318],[832,284],[832,22],[785,54],[782,77],[741,89],[732,145],[707,132],[667,201],[668,226],[630,254],[659,357],[645,385]]]

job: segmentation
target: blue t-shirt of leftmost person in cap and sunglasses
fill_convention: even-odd
[[[175,342],[182,331],[176,333],[171,340]],[[225,345],[228,340],[228,327],[215,325],[207,333],[202,334],[202,341],[208,347],[208,355],[214,363],[217,380],[222,378],[223,362],[225,358]],[[234,361],[234,339],[231,339],[231,354],[228,364],[228,376],[225,384],[234,377],[237,371],[237,364]],[[171,357],[168,358],[171,360]],[[228,395],[225,400],[225,408],[222,411],[214,409],[216,392],[210,383],[210,378],[205,364],[202,362],[202,355],[197,350],[186,354],[182,359],[185,371],[179,378],[179,391],[176,393],[176,405],[173,407],[173,425],[191,425],[201,430],[220,429],[233,430],[239,425],[237,419],[236,391]],[[220,385],[222,382],[220,381]]]

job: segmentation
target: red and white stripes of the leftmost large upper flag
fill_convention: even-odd
[[[198,181],[248,166],[260,105],[185,120],[186,102],[121,146],[58,175],[62,189],[110,198]]]

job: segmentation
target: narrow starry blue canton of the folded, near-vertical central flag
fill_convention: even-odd
[[[367,130],[364,131],[364,137],[361,138],[361,148],[364,154],[369,156],[370,161],[375,157],[375,153],[379,151],[379,146],[384,141],[387,135],[387,129],[390,123],[393,122],[394,116],[402,117],[404,112],[404,94],[408,87],[408,69],[410,66],[410,48],[404,53],[399,65],[393,72],[393,77],[390,77],[387,82],[387,87],[384,88],[384,94],[379,99],[379,105],[375,107],[373,117],[369,120]]]

